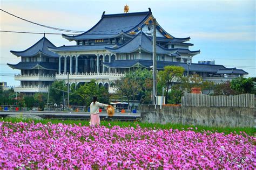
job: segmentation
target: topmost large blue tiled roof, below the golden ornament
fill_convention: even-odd
[[[105,15],[105,12],[103,12],[102,18],[90,30],[76,36],[62,34],[62,37],[72,41],[116,38],[120,36],[121,33],[130,34],[133,32],[133,34],[138,34],[139,30],[146,25],[145,22],[152,23],[152,20],[149,20],[152,18],[153,16],[150,8],[149,11],[146,12],[117,13],[111,15]],[[185,42],[190,40],[190,37],[175,38],[171,36],[169,33],[165,32],[158,23],[157,30],[161,30],[163,35],[171,37],[171,39],[159,37],[157,38],[158,41]]]

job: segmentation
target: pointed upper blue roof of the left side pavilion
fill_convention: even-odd
[[[56,47],[49,41],[47,38],[43,37],[39,41],[36,42],[36,44],[32,45],[28,49],[25,49],[24,51],[10,51],[12,54],[17,56],[35,56],[39,53],[42,53],[43,55],[47,55],[50,57],[58,57],[58,54],[55,54],[48,50],[47,47]]]

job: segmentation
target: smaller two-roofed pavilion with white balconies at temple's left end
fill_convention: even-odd
[[[16,65],[8,63],[13,69],[20,69],[21,74],[15,75],[15,80],[21,81],[21,86],[14,90],[25,94],[48,93],[48,86],[55,81],[58,72],[58,54],[48,50],[56,47],[45,36],[24,51],[11,51],[21,56],[21,62]]]

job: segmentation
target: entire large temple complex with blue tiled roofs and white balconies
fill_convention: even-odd
[[[76,36],[62,35],[75,41],[76,45],[56,47],[44,37],[23,52],[11,51],[22,56],[22,62],[8,65],[21,69],[21,75],[15,76],[16,80],[21,80],[21,88],[30,85],[45,87],[55,79],[67,81],[69,73],[71,83],[77,85],[95,79],[99,86],[105,86],[113,93],[111,82],[119,80],[126,72],[137,68],[151,69],[153,18],[150,8],[146,12],[112,15],[103,12],[99,22],[90,30]],[[162,70],[168,65],[181,66],[186,70],[184,76],[199,74],[204,80],[214,82],[248,74],[222,65],[192,63],[200,50],[191,51],[189,47],[193,44],[188,43],[189,40],[190,37],[173,37],[156,23],[157,69]],[[44,65],[46,62],[49,64]],[[30,81],[29,75],[53,75],[54,80],[34,78]]]

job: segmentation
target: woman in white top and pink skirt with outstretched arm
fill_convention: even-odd
[[[92,103],[90,104],[91,121],[90,125],[95,126],[100,124],[99,119],[99,107],[108,107],[109,105],[97,102],[97,96],[92,97]]]

